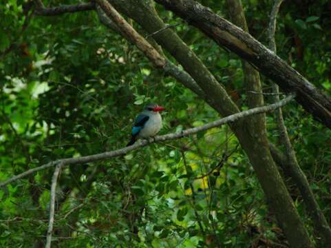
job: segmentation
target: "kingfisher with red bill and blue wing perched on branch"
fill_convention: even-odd
[[[162,117],[160,112],[165,110],[164,107],[155,103],[147,105],[134,121],[131,131],[131,141],[127,144],[134,145],[138,138],[149,138],[156,136],[162,127]]]

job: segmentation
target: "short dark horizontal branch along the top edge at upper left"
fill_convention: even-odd
[[[78,3],[76,5],[62,5],[56,7],[45,8],[40,0],[36,3],[36,15],[41,16],[54,16],[58,14],[73,13],[87,10],[95,10],[95,3]]]

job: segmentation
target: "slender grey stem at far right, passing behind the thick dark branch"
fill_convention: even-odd
[[[279,11],[279,7],[283,0],[275,0],[273,5],[273,9],[270,13],[270,21],[268,25],[268,45],[273,52],[276,53],[276,42],[275,42],[275,30],[276,30],[276,22],[277,22],[277,13]],[[274,102],[277,103],[279,101],[279,87],[275,83],[273,83],[273,92],[275,95],[273,96]],[[297,161],[297,156],[295,154],[295,149],[292,147],[290,142],[290,137],[288,136],[288,130],[285,125],[283,113],[281,107],[275,110],[277,127],[280,135],[280,142],[285,147],[285,156],[286,156],[286,170],[290,173],[290,176],[295,180],[297,187],[299,187],[299,191],[303,198],[306,207],[310,215],[312,216],[312,220],[314,222],[314,234],[317,236],[317,239],[322,238],[323,247],[331,247],[331,229],[330,225],[321,211],[317,200],[312,194],[312,190],[310,189],[309,182],[306,178],[306,175],[300,168],[300,165]],[[277,154],[277,153],[275,153]]]

